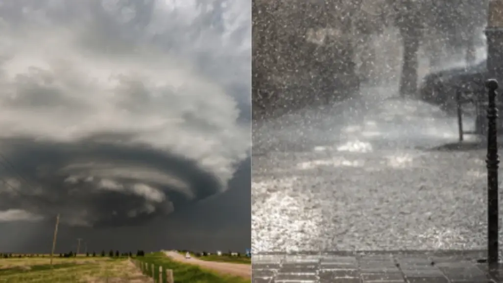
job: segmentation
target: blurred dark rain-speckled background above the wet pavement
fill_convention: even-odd
[[[487,0],[253,1],[256,118],[344,100],[360,84],[421,78],[485,46]],[[424,62],[427,62],[426,64]]]

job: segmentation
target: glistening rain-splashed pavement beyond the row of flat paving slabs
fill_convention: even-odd
[[[255,252],[486,248],[485,150],[436,149],[456,118],[387,92],[254,125]]]

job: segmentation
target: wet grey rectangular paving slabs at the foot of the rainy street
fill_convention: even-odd
[[[254,255],[252,283],[499,283],[483,251]],[[501,275],[499,275],[501,274]]]

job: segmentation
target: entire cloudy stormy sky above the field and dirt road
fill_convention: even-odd
[[[2,1],[0,251],[248,248],[250,14]]]

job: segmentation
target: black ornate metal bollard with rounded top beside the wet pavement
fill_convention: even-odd
[[[498,263],[498,141],[496,120],[498,110],[496,108],[496,80],[487,80],[486,87],[489,89],[487,105],[487,263]]]

